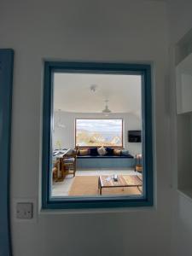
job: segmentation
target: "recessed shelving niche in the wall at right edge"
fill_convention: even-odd
[[[192,30],[175,51],[177,92],[177,189],[192,198]]]

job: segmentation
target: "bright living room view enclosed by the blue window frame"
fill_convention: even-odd
[[[51,196],[143,195],[142,78],[54,73]]]

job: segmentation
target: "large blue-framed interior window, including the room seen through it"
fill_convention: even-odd
[[[150,65],[45,61],[43,116],[43,208],[153,205]]]

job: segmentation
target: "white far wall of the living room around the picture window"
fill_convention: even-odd
[[[133,113],[111,113],[108,118],[122,118],[123,119],[123,140],[124,147],[128,149],[130,154],[141,154],[142,143],[128,143],[128,131],[141,130],[141,119]],[[65,125],[64,128],[55,125],[53,133],[53,148],[58,148],[57,141],[61,142],[61,148],[74,148],[75,147],[75,119],[77,118],[103,118],[102,113],[69,113],[63,112],[54,113],[54,119],[61,118],[61,123]]]

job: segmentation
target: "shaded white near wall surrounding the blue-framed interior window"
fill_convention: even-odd
[[[140,0],[1,1],[0,47],[15,49],[11,143],[14,256],[170,255],[166,4]],[[153,63],[152,209],[57,214],[16,221],[13,201],[40,204],[43,61]]]

